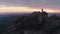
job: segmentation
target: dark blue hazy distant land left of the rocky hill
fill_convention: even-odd
[[[28,14],[0,14],[0,34],[5,32],[8,27],[15,23],[16,19]]]

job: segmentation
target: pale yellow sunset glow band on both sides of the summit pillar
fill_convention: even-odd
[[[0,12],[33,12],[33,11],[41,11],[40,9],[29,8],[29,7],[0,7]],[[60,10],[51,10],[51,9],[44,9],[44,11],[48,13],[55,13],[56,11]]]

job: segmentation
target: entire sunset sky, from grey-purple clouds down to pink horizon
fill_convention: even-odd
[[[0,13],[33,12],[42,8],[49,13],[60,13],[60,0],[0,0]]]

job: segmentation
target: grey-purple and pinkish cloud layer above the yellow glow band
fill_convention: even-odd
[[[8,6],[60,9],[60,0],[0,0],[0,4],[2,3]]]

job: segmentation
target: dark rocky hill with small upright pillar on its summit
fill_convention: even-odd
[[[16,19],[3,34],[60,34],[60,17],[48,13],[33,12],[27,16]]]

